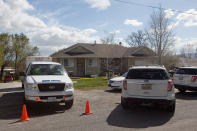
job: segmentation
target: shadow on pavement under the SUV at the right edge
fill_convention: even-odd
[[[175,94],[176,99],[182,99],[182,100],[197,100],[197,92],[177,92]]]

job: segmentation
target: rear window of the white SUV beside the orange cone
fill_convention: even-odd
[[[169,76],[162,69],[131,69],[126,79],[167,80]]]

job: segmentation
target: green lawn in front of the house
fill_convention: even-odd
[[[91,90],[91,89],[101,89],[107,88],[107,79],[106,77],[95,77],[95,78],[86,78],[86,77],[71,77],[74,83],[74,88],[79,90]]]

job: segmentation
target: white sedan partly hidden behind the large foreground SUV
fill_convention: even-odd
[[[108,86],[112,89],[122,89],[123,80],[127,73],[124,73],[122,76],[114,77],[108,81]]]

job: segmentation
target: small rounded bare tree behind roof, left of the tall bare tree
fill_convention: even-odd
[[[142,30],[138,30],[137,32],[132,32],[126,39],[126,42],[131,46],[145,46],[147,45],[147,37],[146,33]]]

